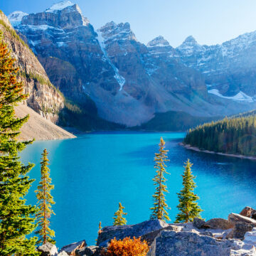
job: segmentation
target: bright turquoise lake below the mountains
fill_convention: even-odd
[[[97,228],[112,225],[112,217],[121,202],[127,212],[127,224],[149,219],[155,175],[154,153],[160,137],[169,149],[167,170],[171,175],[166,201],[169,216],[175,220],[181,190],[183,162],[191,159],[196,175],[196,193],[203,218],[227,218],[245,206],[256,207],[256,161],[215,154],[198,153],[178,145],[183,133],[96,133],[77,139],[35,142],[21,154],[24,163],[36,166],[30,176],[36,178],[28,194],[28,203],[36,203],[40,179],[40,159],[48,149],[55,215],[51,227],[58,247],[85,239],[94,245]]]

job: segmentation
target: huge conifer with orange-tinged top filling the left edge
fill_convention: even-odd
[[[23,84],[16,80],[18,68],[0,33],[0,255],[38,255],[37,238],[26,238],[36,228],[35,206],[23,199],[33,180],[28,172],[33,164],[23,165],[18,152],[32,142],[18,142],[19,129],[28,115],[18,118],[14,106],[26,100]]]

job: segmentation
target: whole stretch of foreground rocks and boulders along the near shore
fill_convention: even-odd
[[[97,245],[87,246],[82,240],[58,251],[47,243],[38,251],[42,256],[101,256],[110,240],[126,237],[146,240],[150,246],[146,256],[256,256],[256,210],[247,206],[240,214],[230,213],[228,219],[195,218],[193,223],[146,220],[135,225],[109,226],[102,229]]]

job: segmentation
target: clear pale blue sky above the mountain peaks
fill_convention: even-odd
[[[0,0],[5,14],[36,13],[58,0]],[[216,44],[256,31],[255,0],[73,0],[95,29],[109,21],[129,22],[142,43],[164,36],[171,46],[192,35]]]

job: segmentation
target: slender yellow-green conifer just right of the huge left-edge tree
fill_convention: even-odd
[[[52,238],[55,236],[53,230],[50,229],[50,215],[55,214],[51,206],[55,204],[53,196],[50,195],[50,191],[54,188],[51,185],[50,169],[48,168],[48,152],[46,149],[43,150],[41,158],[41,181],[39,182],[36,197],[38,198],[39,210],[36,213],[39,230],[36,234],[40,236],[38,243],[45,244],[46,242],[55,243]]]

